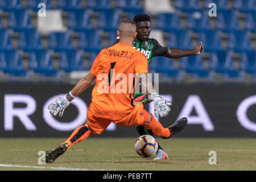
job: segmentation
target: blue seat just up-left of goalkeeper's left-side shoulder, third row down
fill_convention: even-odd
[[[102,49],[102,36],[98,30],[85,30],[79,32],[79,48],[86,52],[100,51]]]

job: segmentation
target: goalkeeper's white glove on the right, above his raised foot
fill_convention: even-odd
[[[158,93],[152,93],[148,99],[154,102],[155,107],[155,116],[156,117],[166,117],[168,113],[171,111],[170,106],[171,102],[164,100],[163,96],[160,96]]]

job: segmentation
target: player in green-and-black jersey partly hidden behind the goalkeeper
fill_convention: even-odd
[[[133,47],[138,51],[142,52],[147,57],[148,66],[151,61],[156,56],[164,56],[168,58],[178,58],[184,56],[200,55],[204,50],[202,42],[195,49],[178,49],[178,48],[168,48],[161,46],[156,39],[148,38],[150,36],[151,26],[150,26],[150,16],[147,14],[138,14],[134,16],[134,22],[137,26],[137,37],[134,39]],[[119,42],[119,38],[114,40],[114,44]],[[141,101],[142,104],[148,104],[151,101],[144,93],[135,93],[135,101]],[[152,135],[152,131],[148,131],[144,126],[136,126],[136,129],[140,135]],[[159,143],[158,143],[159,144]],[[156,152],[156,159],[168,159],[167,153],[163,148],[158,145],[158,151]]]

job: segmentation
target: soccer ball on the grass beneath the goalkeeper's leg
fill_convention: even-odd
[[[148,158],[155,155],[158,150],[158,142],[156,142],[156,139],[151,135],[142,135],[137,138],[134,147],[139,156]]]

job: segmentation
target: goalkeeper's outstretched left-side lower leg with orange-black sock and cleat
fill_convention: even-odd
[[[59,158],[60,155],[63,155],[64,152],[67,151],[73,144],[81,142],[92,135],[94,135],[94,133],[92,133],[92,131],[90,131],[86,125],[77,127],[77,129],[73,131],[71,136],[65,140],[65,142],[61,143],[53,150],[46,152],[46,162],[52,163],[55,159]]]

